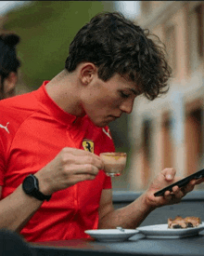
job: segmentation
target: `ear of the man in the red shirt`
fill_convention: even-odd
[[[83,85],[88,85],[97,74],[96,65],[91,62],[86,62],[82,65],[80,71],[80,79]]]

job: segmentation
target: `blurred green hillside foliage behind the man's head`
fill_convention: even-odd
[[[110,8],[107,1],[31,1],[9,12],[4,29],[21,38],[18,55],[23,83],[39,88],[58,74],[74,35],[96,13]]]

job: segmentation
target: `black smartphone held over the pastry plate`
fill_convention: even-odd
[[[185,186],[188,182],[190,182],[191,180],[193,180],[193,179],[198,180],[198,179],[203,178],[203,177],[204,177],[204,168],[198,170],[197,172],[195,172],[195,173],[193,173],[193,174],[191,174],[191,175],[185,177],[184,179],[182,179],[182,180],[180,180],[180,181],[178,181],[178,182],[172,183],[172,185],[169,185],[169,186],[167,186],[167,187],[165,187],[165,188],[162,188],[161,190],[159,190],[158,192],[156,192],[154,195],[155,195],[155,196],[162,196],[162,195],[164,195],[164,193],[165,193],[166,191],[172,192],[172,187],[173,187],[173,186],[179,186],[179,187],[181,188],[181,187],[184,187],[184,186]]]

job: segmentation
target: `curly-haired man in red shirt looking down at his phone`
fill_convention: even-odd
[[[0,227],[29,241],[81,238],[86,229],[135,228],[153,209],[180,202],[196,181],[155,197],[177,181],[166,168],[146,193],[114,210],[98,156],[114,151],[108,123],[130,114],[137,95],[159,96],[169,76],[161,47],[132,21],[104,13],[85,24],[60,74],[0,102]]]

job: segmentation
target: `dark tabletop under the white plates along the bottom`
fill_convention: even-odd
[[[31,244],[37,255],[204,255],[204,232],[177,239],[149,239],[137,234],[124,242],[91,239],[50,241]]]

